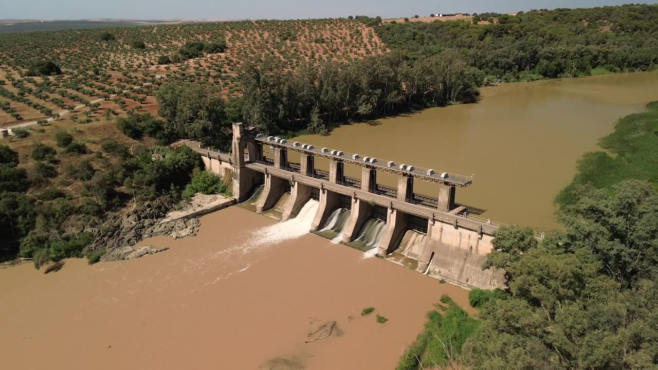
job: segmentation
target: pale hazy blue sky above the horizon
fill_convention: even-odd
[[[2,6],[3,19],[297,19],[348,15],[428,16],[430,13],[515,13],[530,9],[597,7],[637,0],[22,0]],[[658,3],[658,0],[640,1]],[[440,11],[439,11],[440,9]]]

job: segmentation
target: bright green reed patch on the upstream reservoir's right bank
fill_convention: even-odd
[[[565,207],[574,203],[578,185],[592,184],[612,192],[624,180],[646,180],[658,185],[658,101],[647,104],[647,111],[628,115],[615,124],[615,131],[599,145],[606,151],[586,153],[578,162],[572,182],[555,198]]]

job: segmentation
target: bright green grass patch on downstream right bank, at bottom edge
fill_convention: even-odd
[[[416,370],[443,367],[448,357],[457,356],[480,321],[468,316],[448,296],[441,298],[443,305],[427,313],[425,327],[415,342],[400,357],[395,370]]]

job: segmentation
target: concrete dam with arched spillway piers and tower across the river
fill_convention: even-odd
[[[455,203],[456,188],[468,187],[472,176],[288,142],[240,123],[233,126],[232,153],[186,145],[207,171],[232,176],[234,197],[257,212],[452,284],[503,288],[503,271],[481,269],[502,224]],[[299,163],[288,161],[289,151]],[[316,168],[316,158],[329,168]],[[345,176],[346,165],[359,167],[361,178]],[[397,176],[397,188],[378,184],[378,172]],[[436,184],[434,197],[415,193],[415,181]]]

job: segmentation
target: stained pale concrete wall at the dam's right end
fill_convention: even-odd
[[[429,263],[429,275],[453,284],[466,288],[504,288],[504,271],[482,271],[482,263],[493,248],[492,240],[491,236],[480,236],[478,232],[455,229],[453,225],[435,221],[431,230],[428,230],[428,240],[418,261],[418,271],[425,271]],[[430,262],[432,252],[434,257]]]

